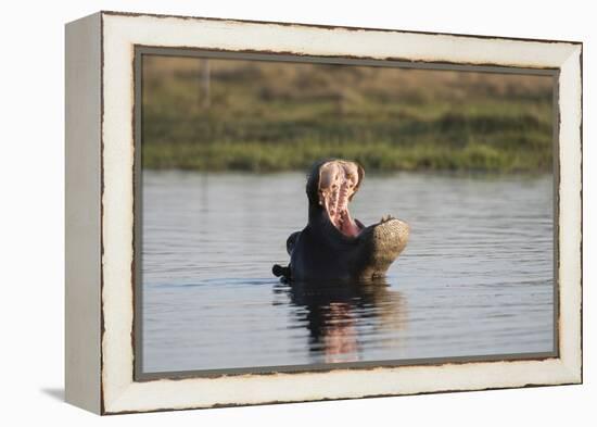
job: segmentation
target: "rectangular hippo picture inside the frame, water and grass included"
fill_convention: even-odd
[[[554,78],[141,63],[143,374],[554,354]]]

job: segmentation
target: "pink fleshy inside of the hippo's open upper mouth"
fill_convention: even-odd
[[[353,162],[331,161],[319,169],[319,204],[333,226],[347,237],[356,237],[363,226],[351,216],[348,202],[357,192],[363,174]]]

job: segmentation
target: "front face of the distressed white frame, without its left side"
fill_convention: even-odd
[[[582,381],[581,43],[118,13],[98,16],[103,66],[103,332],[99,412],[112,414]],[[136,382],[131,339],[135,46],[559,68],[559,356]]]

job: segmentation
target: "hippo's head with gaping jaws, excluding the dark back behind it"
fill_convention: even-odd
[[[326,160],[313,167],[306,192],[309,226],[320,234],[319,242],[345,262],[350,277],[370,278],[383,276],[401,254],[409,226],[390,215],[369,226],[353,218],[348,204],[364,177],[365,171],[355,162]]]

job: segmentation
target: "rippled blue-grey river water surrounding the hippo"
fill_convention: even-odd
[[[411,226],[385,280],[281,284],[305,175],[143,172],[145,373],[550,352],[551,176],[369,174],[366,225]]]

